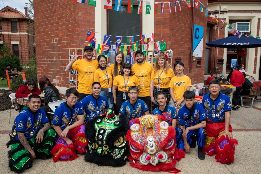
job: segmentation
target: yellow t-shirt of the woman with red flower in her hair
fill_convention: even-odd
[[[154,80],[154,86],[158,86],[158,76],[161,74],[162,69],[159,69],[156,73],[154,70],[151,74],[151,80]],[[168,72],[166,73],[165,70],[163,70],[162,74],[159,76],[159,88],[169,88],[169,81],[172,77],[175,77],[175,74],[173,72],[173,69],[170,68]]]

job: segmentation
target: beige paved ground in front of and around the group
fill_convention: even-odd
[[[250,104],[250,100],[246,100],[244,104]],[[235,161],[231,165],[217,163],[214,157],[206,156],[204,161],[197,158],[197,148],[192,149],[191,154],[177,162],[176,168],[182,170],[181,173],[261,173],[260,163],[260,142],[261,142],[261,102],[254,102],[253,108],[240,107],[239,110],[232,111],[231,125],[234,129],[233,136],[238,140],[239,145],[236,146]],[[0,112],[0,173],[13,173],[8,168],[6,147],[9,141],[9,133],[12,129],[12,122],[17,115],[17,111],[12,110],[11,124],[9,124],[10,110]],[[31,169],[27,169],[25,173],[142,173],[143,171],[132,168],[129,162],[123,167],[99,167],[96,164],[84,161],[83,155],[74,161],[54,163],[51,159],[36,159]],[[152,172],[146,172],[152,173]],[[164,172],[158,172],[164,173]]]

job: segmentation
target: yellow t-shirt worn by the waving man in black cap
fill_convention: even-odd
[[[78,71],[78,92],[91,94],[94,71],[99,67],[97,60],[92,59],[91,62],[87,62],[85,59],[80,59],[75,61],[72,67],[73,70]]]

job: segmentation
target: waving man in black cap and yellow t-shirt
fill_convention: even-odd
[[[78,101],[92,93],[91,84],[94,79],[94,71],[99,67],[97,60],[92,59],[93,48],[91,46],[84,47],[84,59],[77,60],[79,56],[73,55],[70,63],[65,68],[66,72],[78,71]]]

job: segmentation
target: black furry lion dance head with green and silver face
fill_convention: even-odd
[[[123,166],[127,160],[127,141],[129,129],[125,115],[115,115],[112,109],[89,120],[85,125],[88,140],[85,160],[98,165]]]

